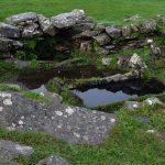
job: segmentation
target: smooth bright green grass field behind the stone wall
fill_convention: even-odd
[[[11,14],[35,11],[52,16],[73,9],[84,9],[97,21],[121,22],[125,16],[141,14],[148,18],[165,14],[164,0],[1,0],[0,20]]]

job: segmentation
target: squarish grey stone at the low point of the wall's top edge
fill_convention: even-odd
[[[119,38],[121,36],[121,29],[117,26],[107,26],[106,32],[112,38]]]

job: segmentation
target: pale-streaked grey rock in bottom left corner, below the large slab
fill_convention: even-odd
[[[19,155],[30,156],[34,150],[16,142],[0,140],[0,160],[12,160]]]

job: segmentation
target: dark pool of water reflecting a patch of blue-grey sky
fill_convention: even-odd
[[[160,94],[163,90],[165,90],[165,86],[157,80],[127,80],[106,86],[75,89],[73,92],[84,101],[85,106],[96,107],[148,94]]]

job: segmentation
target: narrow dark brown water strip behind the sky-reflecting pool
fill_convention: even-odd
[[[55,77],[76,79],[89,77],[106,77],[119,73],[121,73],[121,70],[98,70],[95,66],[75,69],[34,70],[21,74],[16,81],[22,82],[29,89],[36,89],[42,85],[47,84],[50,79]]]

